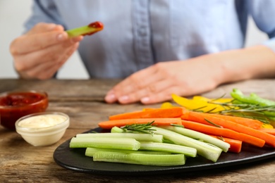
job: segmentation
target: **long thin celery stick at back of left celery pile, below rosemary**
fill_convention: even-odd
[[[90,133],[90,134],[77,134],[80,137],[110,137],[110,138],[133,138],[137,141],[156,141],[162,142],[163,136],[160,134],[133,134],[133,133]]]

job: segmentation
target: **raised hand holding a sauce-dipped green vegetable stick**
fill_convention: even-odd
[[[68,38],[61,25],[38,23],[13,40],[10,52],[20,77],[46,80],[78,49],[82,36]]]

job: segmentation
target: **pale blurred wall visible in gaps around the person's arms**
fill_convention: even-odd
[[[30,15],[32,0],[0,0],[0,78],[16,78],[13,60],[9,53],[9,44],[23,32],[23,23]],[[257,30],[249,21],[246,46],[259,44],[267,36]],[[59,79],[87,79],[87,71],[82,65],[78,53],[66,62],[58,75]]]

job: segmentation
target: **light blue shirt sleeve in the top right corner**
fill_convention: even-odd
[[[255,24],[266,32],[269,40],[264,42],[275,52],[275,1],[274,0],[250,0],[248,3],[248,12],[252,16]]]

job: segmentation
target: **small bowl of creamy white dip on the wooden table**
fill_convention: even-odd
[[[49,146],[63,137],[69,125],[70,119],[65,113],[34,113],[16,121],[16,132],[33,146]]]

